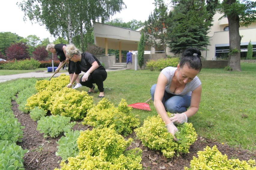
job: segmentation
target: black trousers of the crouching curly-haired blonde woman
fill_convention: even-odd
[[[89,75],[87,81],[82,81],[82,77],[83,76],[80,78],[80,83],[82,86],[93,88],[93,84],[95,83],[98,86],[99,92],[104,92],[103,81],[105,81],[107,78],[107,72],[105,69],[94,70],[91,75]]]

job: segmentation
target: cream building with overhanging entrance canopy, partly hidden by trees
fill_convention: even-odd
[[[208,36],[210,37],[210,45],[207,45],[206,51],[202,51],[202,56],[206,60],[223,60],[227,59],[229,53],[229,25],[227,17],[223,14],[216,13],[213,17],[213,26],[210,28]],[[138,42],[141,36],[141,29],[129,30],[126,28],[106,25],[102,23],[94,23],[94,43],[96,46],[105,48],[107,55],[108,48],[119,50],[137,51]],[[246,58],[247,46],[251,41],[253,45],[253,57],[256,57],[256,22],[248,27],[240,27],[239,34],[241,39],[241,58]],[[163,49],[155,49],[145,46],[145,51],[151,51],[151,54],[161,53]],[[167,55],[174,54],[169,52],[166,47]]]

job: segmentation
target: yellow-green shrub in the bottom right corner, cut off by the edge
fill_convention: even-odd
[[[206,146],[204,151],[197,152],[198,158],[193,156],[190,161],[190,168],[184,170],[255,170],[255,160],[240,161],[239,159],[227,159],[227,155],[222,155],[216,145],[212,148]]]

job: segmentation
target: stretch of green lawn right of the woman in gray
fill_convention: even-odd
[[[202,69],[198,113],[189,118],[200,136],[255,150],[256,63],[241,63],[242,72]]]

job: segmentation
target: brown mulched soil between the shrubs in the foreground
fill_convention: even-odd
[[[36,130],[37,122],[34,122],[29,114],[22,113],[18,110],[18,105],[16,101],[12,101],[12,110],[14,115],[19,120],[22,126],[24,134],[22,142],[18,142],[23,149],[28,149],[29,153],[24,156],[24,168],[26,170],[53,170],[55,167],[60,168],[59,163],[61,157],[56,156],[57,143],[59,140],[57,138],[43,138],[43,134]],[[50,114],[50,113],[48,113]],[[73,130],[86,130],[91,129],[89,126],[83,126],[77,121],[77,124]],[[238,158],[239,160],[249,160],[255,159],[256,154],[251,153],[247,150],[232,148],[227,145],[223,145],[214,140],[204,139],[198,136],[198,140],[190,146],[188,154],[180,154],[179,157],[175,156],[172,159],[166,159],[159,151],[150,150],[144,147],[139,139],[136,139],[135,133],[130,134],[126,138],[133,138],[134,142],[130,145],[128,149],[139,147],[142,149],[142,166],[144,169],[166,169],[166,170],[183,170],[184,166],[190,167],[190,160],[193,156],[197,157],[198,151],[203,151],[206,146],[216,145],[218,150],[222,154],[226,154],[229,159]]]

